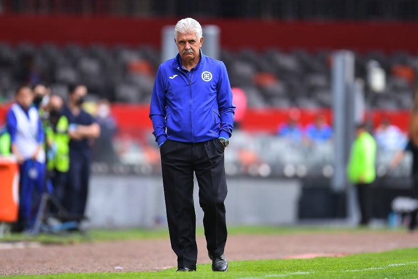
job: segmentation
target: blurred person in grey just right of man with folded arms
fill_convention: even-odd
[[[113,164],[118,162],[113,138],[118,131],[115,118],[111,114],[110,102],[101,99],[97,102],[96,121],[100,125],[100,136],[94,141],[92,158],[95,162]]]

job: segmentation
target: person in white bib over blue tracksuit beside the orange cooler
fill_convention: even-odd
[[[32,105],[30,87],[18,88],[15,100],[7,112],[6,127],[10,134],[11,152],[20,171],[18,230],[30,230],[38,207],[33,201],[39,201],[44,190],[44,133],[38,111]]]

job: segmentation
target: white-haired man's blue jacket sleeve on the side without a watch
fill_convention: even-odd
[[[161,66],[158,68],[152,89],[151,103],[149,106],[149,118],[152,122],[155,141],[160,145],[167,139],[166,134],[166,94]]]

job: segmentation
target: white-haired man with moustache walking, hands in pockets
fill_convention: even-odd
[[[212,270],[227,271],[224,150],[234,124],[231,85],[225,64],[202,53],[196,20],[180,20],[174,41],[179,54],[159,66],[149,112],[160,147],[171,246],[178,271],[195,271],[195,173]]]

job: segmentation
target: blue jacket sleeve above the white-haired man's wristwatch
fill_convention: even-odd
[[[234,127],[235,105],[232,103],[232,90],[225,64],[220,62],[218,83],[218,107],[221,118],[219,137],[229,139]]]

